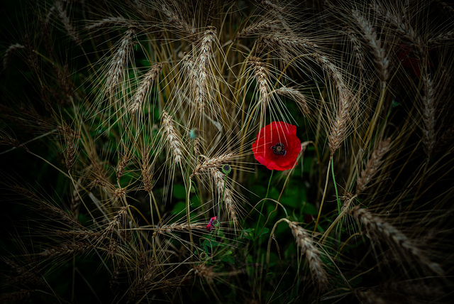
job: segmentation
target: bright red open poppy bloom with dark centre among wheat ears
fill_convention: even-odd
[[[297,162],[301,141],[297,126],[284,121],[273,121],[258,132],[253,143],[255,159],[270,170],[289,170]]]

